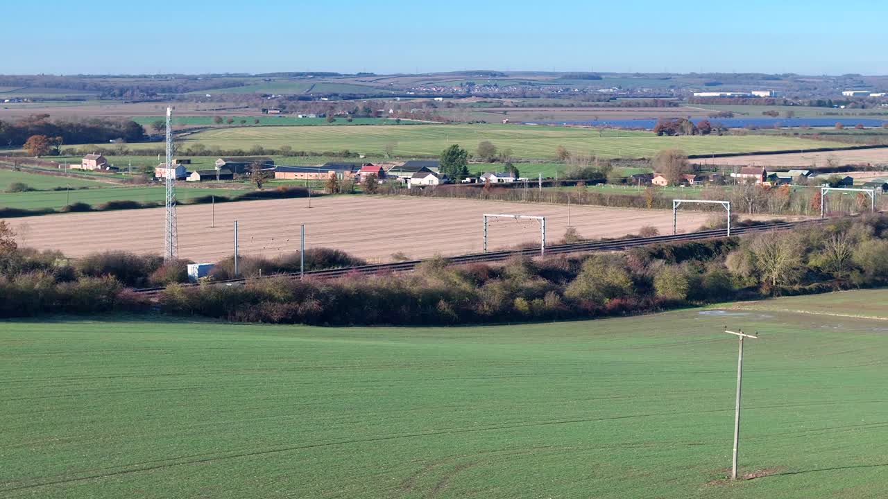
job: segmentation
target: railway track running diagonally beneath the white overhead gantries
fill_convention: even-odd
[[[803,220],[799,222],[773,222],[760,226],[734,227],[731,229],[731,236],[733,237],[735,235],[756,234],[772,230],[786,230],[797,226],[819,224],[822,222],[823,220],[821,219],[813,219]],[[723,237],[727,237],[725,229],[714,229],[688,234],[658,235],[654,237],[639,237],[634,239],[617,239],[614,241],[576,242],[573,244],[558,244],[554,246],[549,246],[545,249],[545,254],[562,255],[569,253],[588,253],[594,251],[616,251],[621,249],[637,248],[638,246],[647,246],[650,244],[660,244],[663,242],[686,242]],[[488,253],[473,253],[469,255],[461,255],[458,257],[448,257],[447,260],[450,264],[455,265],[499,262],[515,256],[533,257],[538,255],[539,252],[539,248],[507,249],[504,251],[488,251]],[[313,270],[306,272],[305,277],[311,277],[312,279],[336,279],[337,277],[343,277],[350,274],[410,272],[416,269],[416,266],[420,265],[424,261],[425,260],[410,260],[407,262],[396,262],[391,264],[359,265],[353,267]],[[299,273],[277,273],[263,277],[252,277],[250,279],[268,279],[271,277],[281,276],[289,277],[290,279],[299,279]],[[214,281],[213,284],[217,286],[238,286],[242,285],[245,281],[247,281],[247,279],[245,278],[232,279],[229,281]],[[182,286],[194,287],[199,286],[199,284],[183,284]],[[163,289],[164,288],[135,289],[135,292],[145,297],[157,298],[161,296],[161,294],[163,293]]]

